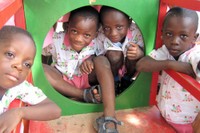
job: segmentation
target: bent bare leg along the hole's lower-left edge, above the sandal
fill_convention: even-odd
[[[50,84],[62,95],[83,100],[83,90],[69,84],[63,79],[63,75],[54,67],[43,64],[44,72]]]

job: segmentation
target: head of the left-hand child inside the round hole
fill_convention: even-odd
[[[68,36],[71,47],[80,52],[97,36],[99,14],[91,6],[78,8],[71,12],[68,25]]]

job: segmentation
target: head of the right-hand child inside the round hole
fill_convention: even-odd
[[[122,43],[131,24],[129,16],[115,8],[102,6],[100,19],[105,36],[113,43]]]

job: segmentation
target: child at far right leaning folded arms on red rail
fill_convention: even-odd
[[[137,70],[144,72],[172,69],[200,82],[200,46],[198,16],[195,11],[174,7],[165,16],[162,28],[163,46],[138,61]],[[192,133],[192,122],[199,113],[200,102],[173,78],[162,71],[158,108],[165,120],[179,133]]]

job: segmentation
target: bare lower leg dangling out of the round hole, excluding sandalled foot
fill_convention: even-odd
[[[115,117],[114,79],[110,63],[104,56],[98,56],[94,58],[94,68],[102,90],[104,116]]]

